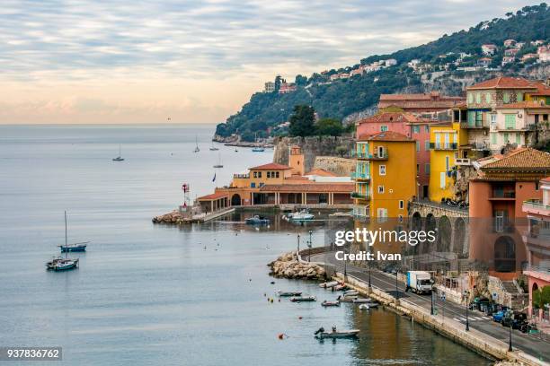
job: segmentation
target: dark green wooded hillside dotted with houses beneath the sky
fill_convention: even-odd
[[[515,14],[507,13],[505,18],[480,22],[469,30],[444,35],[425,45],[389,55],[366,57],[361,59],[360,65],[315,73],[308,78],[297,75],[296,84],[293,85],[296,91],[284,94],[277,90],[254,93],[238,113],[217,126],[216,134],[223,137],[237,133],[246,141],[253,140],[254,135],[284,135],[286,130],[277,126],[288,120],[297,104],[312,105],[321,118],[346,118],[362,110],[372,109],[381,93],[427,91],[427,85],[433,86],[433,83],[425,83],[426,74],[432,72],[438,74],[437,85],[443,87],[441,92],[456,93],[456,87],[450,90],[444,88],[452,84],[446,83],[445,79],[453,79],[457,74],[462,77],[464,70],[476,65],[477,60],[483,57],[481,45],[502,45],[505,39],[526,42],[527,46],[519,51],[519,57],[527,52],[536,52],[536,48],[529,45],[532,40],[540,39],[547,44],[550,39],[550,10],[547,5],[526,6]],[[500,69],[503,56],[503,49],[499,48],[487,68],[492,67],[493,71],[495,67]],[[370,65],[390,59],[396,61],[395,65],[368,69]],[[412,60],[418,65],[407,65]],[[529,64],[518,62],[504,65],[499,72],[518,74]],[[365,66],[368,73],[356,73]],[[342,75],[342,78],[334,77],[338,75]]]

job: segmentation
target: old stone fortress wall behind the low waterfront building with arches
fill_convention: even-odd
[[[317,156],[340,157],[341,153],[337,148],[345,149],[343,157],[350,157],[350,152],[355,146],[352,135],[344,136],[308,136],[308,137],[277,137],[274,140],[275,151],[273,162],[288,165],[288,154],[290,146],[297,145],[304,154],[304,165],[306,171],[312,170],[315,166]]]

